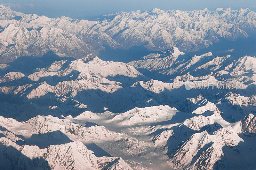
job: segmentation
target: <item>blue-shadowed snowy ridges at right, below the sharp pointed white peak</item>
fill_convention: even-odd
[[[176,50],[178,50],[176,48]],[[246,87],[248,84],[255,84],[255,58],[243,56],[239,59],[227,56],[213,56],[211,52],[204,55],[187,56],[184,54],[179,57],[170,57],[168,52],[164,54],[149,54],[132,61],[129,64],[138,69],[146,69],[152,72],[152,75],[166,75],[173,81],[202,81],[212,79],[211,81],[224,80],[233,81],[238,88]],[[150,56],[150,58],[148,58]],[[172,55],[171,55],[172,56]],[[253,74],[251,74],[253,73]],[[235,77],[234,77],[235,76]],[[235,81],[239,81],[235,82]],[[241,82],[247,84],[241,84]],[[220,83],[219,83],[220,84]],[[227,85],[225,85],[227,86]]]

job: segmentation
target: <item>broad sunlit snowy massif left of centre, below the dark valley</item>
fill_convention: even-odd
[[[22,87],[3,86],[1,91],[4,93],[16,93],[16,91],[22,89],[23,92],[20,95],[26,94],[28,99],[39,98],[49,92],[64,96],[71,92],[71,96],[75,96],[77,92],[88,89],[100,89],[103,92],[110,93],[122,88],[120,83],[115,80],[122,80],[126,83],[129,82],[130,78],[143,77],[139,71],[128,64],[105,62],[92,54],[83,59],[72,61],[70,64],[65,65],[65,63],[68,62],[54,62],[48,68],[40,68],[38,71],[28,75],[28,79],[38,82],[34,84],[33,89],[30,88],[32,85],[24,85]],[[9,72],[2,76],[1,79],[2,81],[11,81],[24,76],[22,73]],[[119,78],[119,76],[127,78]],[[107,79],[106,77],[109,78]],[[56,86],[52,86],[44,80],[50,83],[59,82]]]

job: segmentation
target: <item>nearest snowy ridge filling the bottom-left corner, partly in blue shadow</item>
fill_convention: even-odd
[[[0,142],[6,147],[5,150],[2,150],[2,152],[5,152],[4,159],[2,159],[8,161],[5,162],[6,164],[11,163],[8,165],[9,168],[15,169],[24,166],[25,169],[102,169],[108,166],[108,164],[114,163],[114,165],[106,169],[132,169],[120,157],[95,156],[93,152],[88,150],[80,141],[50,145],[44,149],[40,149],[37,146],[20,146],[6,137],[0,138]],[[15,149],[16,152],[20,151],[20,154],[14,156],[14,152],[8,152],[10,146],[13,147],[12,150]],[[42,159],[40,159],[40,157]],[[119,161],[116,162],[116,159],[119,159]],[[14,162],[17,162],[17,164]]]

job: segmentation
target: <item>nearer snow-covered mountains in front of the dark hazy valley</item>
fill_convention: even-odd
[[[174,47],[128,64],[93,54],[28,71],[0,64],[1,159],[11,168],[254,168],[242,158],[256,151],[254,59]]]

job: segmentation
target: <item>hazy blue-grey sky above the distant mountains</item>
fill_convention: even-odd
[[[48,17],[69,16],[72,18],[90,18],[116,11],[145,11],[153,8],[163,10],[199,10],[207,8],[240,9],[249,8],[256,11],[256,0],[0,0],[0,3],[31,3],[44,10],[35,11]],[[33,11],[34,12],[34,11]]]

